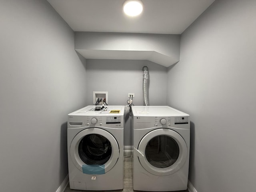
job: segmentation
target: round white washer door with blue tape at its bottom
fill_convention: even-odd
[[[119,158],[118,142],[106,130],[88,128],[79,132],[72,140],[70,157],[84,174],[105,174]]]

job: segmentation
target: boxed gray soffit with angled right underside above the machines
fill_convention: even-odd
[[[149,60],[169,67],[180,59],[180,35],[75,32],[75,50],[87,59]]]

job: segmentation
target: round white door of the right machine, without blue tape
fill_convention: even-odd
[[[188,153],[182,136],[166,128],[146,134],[140,141],[137,151],[144,169],[158,176],[177,172],[184,165]]]

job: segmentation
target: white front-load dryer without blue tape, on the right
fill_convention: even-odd
[[[134,190],[186,190],[189,115],[169,106],[132,106]]]

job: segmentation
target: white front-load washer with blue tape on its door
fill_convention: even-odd
[[[124,106],[105,107],[86,106],[68,114],[71,189],[123,189]]]

